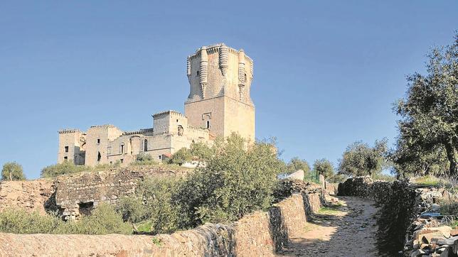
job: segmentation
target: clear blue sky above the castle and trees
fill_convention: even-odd
[[[183,111],[186,56],[224,42],[255,61],[257,138],[334,164],[394,142],[405,75],[452,42],[458,1],[0,1],[0,165],[56,162],[61,128],[148,128]]]

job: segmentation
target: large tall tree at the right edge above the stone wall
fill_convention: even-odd
[[[428,59],[427,74],[409,75],[406,97],[395,106],[401,117],[398,151],[427,155],[442,146],[449,161],[448,173],[457,177],[458,33],[452,45],[433,49]],[[403,165],[409,160],[398,158],[395,162]]]

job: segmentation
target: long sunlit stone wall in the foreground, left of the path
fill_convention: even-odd
[[[205,224],[174,234],[0,233],[0,256],[275,256],[307,222],[306,197],[294,194],[268,212],[255,212],[233,224]]]

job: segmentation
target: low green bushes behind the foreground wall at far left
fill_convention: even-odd
[[[132,234],[120,214],[108,204],[100,204],[92,215],[77,222],[63,222],[50,214],[28,213],[23,209],[0,212],[0,232],[15,234]]]

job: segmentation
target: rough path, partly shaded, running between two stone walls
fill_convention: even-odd
[[[309,218],[304,233],[282,256],[377,256],[376,207],[358,197],[339,197]]]

